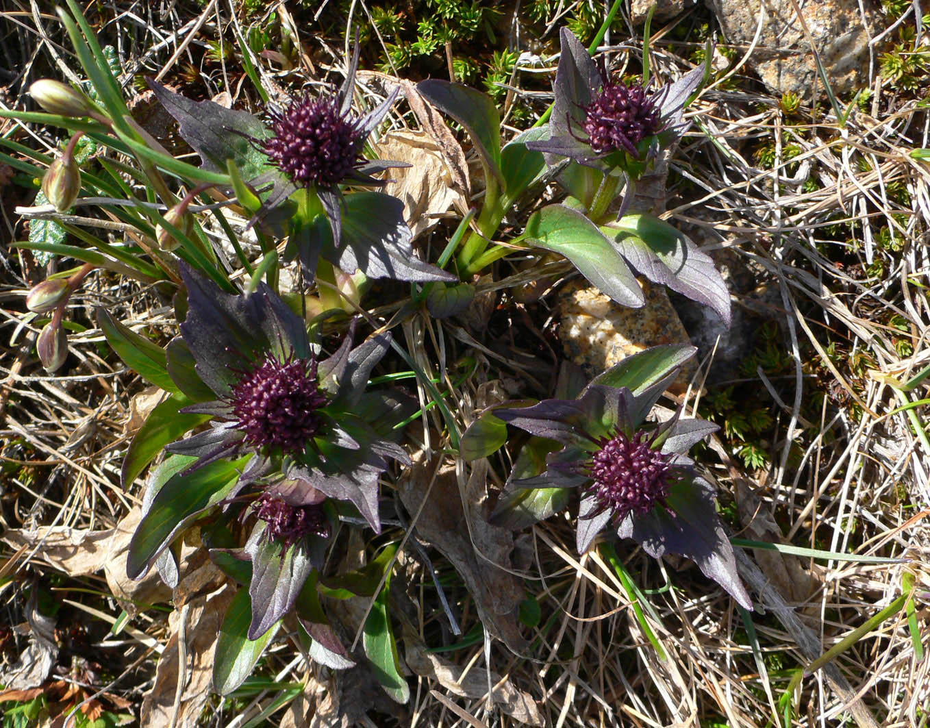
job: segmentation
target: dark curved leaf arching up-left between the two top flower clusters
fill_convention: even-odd
[[[468,132],[487,171],[503,182],[500,173],[500,114],[487,94],[461,84],[430,78],[417,84],[420,95],[455,119]]]

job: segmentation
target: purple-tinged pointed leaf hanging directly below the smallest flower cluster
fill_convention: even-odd
[[[259,522],[246,541],[246,553],[252,561],[249,640],[257,640],[290,611],[313,570],[305,541],[283,549],[281,544],[268,540],[265,530],[265,524]]]

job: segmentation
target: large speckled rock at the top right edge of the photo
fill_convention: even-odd
[[[751,44],[765,13],[759,42],[749,60],[765,86],[778,94],[790,91],[805,99],[810,99],[815,89],[823,93],[814,54],[790,0],[705,2],[731,44]],[[869,39],[883,27],[877,3],[863,0],[864,14],[859,0],[808,0],[798,5],[834,93],[846,95],[867,86]]]

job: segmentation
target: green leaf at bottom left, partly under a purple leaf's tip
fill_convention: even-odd
[[[246,637],[252,618],[252,602],[248,592],[240,589],[226,611],[219,628],[217,649],[213,657],[213,689],[219,695],[229,695],[252,673],[259,657],[281,627],[277,622],[258,640]]]

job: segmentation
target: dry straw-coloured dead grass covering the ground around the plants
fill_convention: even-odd
[[[8,37],[19,39],[21,60],[32,63],[41,57],[73,67],[60,46],[44,39],[49,18],[34,5],[18,4],[19,11],[6,21]],[[296,37],[315,44],[311,29],[298,30],[289,5],[279,5],[278,12]],[[233,37],[225,3],[210,2],[193,16],[183,15],[173,3],[148,7],[146,17],[134,14],[139,9],[134,7],[116,3],[111,16],[126,33],[139,33],[135,38],[120,34],[124,44],[132,45],[121,52],[136,59],[133,68],[154,62],[170,77],[183,60],[202,57],[203,36],[198,33],[217,35],[219,22],[225,41]],[[46,30],[36,33],[36,24]],[[659,44],[654,51],[660,73],[677,66],[666,46]],[[5,52],[10,57],[17,51],[7,44]],[[225,64],[205,70],[237,87]],[[398,713],[372,696],[365,680],[307,668],[291,642],[278,642],[265,673],[278,681],[305,682],[306,687],[272,724],[302,725],[308,710],[319,716],[335,714],[360,695],[385,711],[373,714],[378,717],[360,716],[363,725],[390,720],[496,726],[537,717],[556,728],[780,724],[779,700],[793,671],[894,600],[904,589],[905,574],[917,581],[923,659],[915,655],[906,616],[894,615],[830,666],[804,678],[793,698],[797,711],[791,724],[926,724],[930,441],[923,431],[926,409],[921,403],[926,386],[903,390],[896,383],[930,364],[925,295],[930,285],[925,252],[930,165],[910,157],[913,148],[930,146],[927,116],[917,101],[889,98],[887,89],[876,83],[871,108],[854,110],[844,126],[822,102],[789,117],[776,97],[760,92],[741,72],[725,87],[705,90],[692,106],[699,126],[692,127],[671,164],[667,215],[690,226],[703,245],[736,256],[756,284],[767,288],[771,295],[764,303],[746,294],[737,295],[734,304],[777,321],[790,357],[790,378],[776,388],[764,372],[758,373],[759,390],[775,394],[776,424],[767,453],[771,467],[744,469],[732,457],[734,443],[723,434],[714,452],[703,458],[705,467],[719,483],[722,501],[735,507],[737,537],[910,561],[814,561],[746,550],[740,569],[758,608],[744,615],[687,563],[656,563],[621,544],[621,562],[645,591],[646,603],[634,604],[602,552],[579,557],[567,515],[553,518],[516,541],[512,571],[540,607],[538,626],[524,630],[529,642],[520,652],[498,641],[479,640],[442,653],[439,673],[435,663],[419,668],[407,712]],[[272,92],[295,81],[286,73],[265,73],[263,78]],[[514,78],[517,99],[520,78],[519,73]],[[10,107],[16,102],[15,96],[6,99]],[[39,143],[52,140],[47,130],[34,131]],[[774,165],[764,168],[755,152],[765,146],[774,147]],[[5,225],[9,239],[23,236],[16,220],[7,218]],[[900,249],[895,249],[897,242],[887,245],[888,240],[899,242]],[[0,255],[6,277],[0,297],[12,309],[0,312],[7,344],[0,358],[3,526],[112,527],[138,504],[137,493],[123,492],[118,483],[130,399],[140,391],[140,382],[113,364],[112,357],[102,358],[102,337],[93,329],[72,335],[78,363],[67,374],[45,376],[30,345],[35,332],[20,324],[20,256],[13,251]],[[507,272],[514,271],[501,274]],[[516,275],[532,280],[538,271]],[[119,311],[131,327],[171,332],[170,307],[156,292],[129,288],[113,278],[93,280],[77,298],[73,318],[92,320],[86,309],[105,305]],[[542,299],[542,308],[547,301]],[[536,324],[541,329],[548,322]],[[466,415],[486,401],[491,385],[485,382],[506,383],[514,377],[533,381],[538,374],[526,364],[534,357],[531,351],[525,352],[528,356],[501,355],[489,342],[477,340],[475,332],[454,324],[416,320],[405,326],[404,335],[408,351],[441,352],[449,362],[465,353],[478,358],[472,377],[458,387],[451,380],[446,383],[450,401],[458,402]],[[703,364],[706,371],[710,362]],[[425,398],[425,391],[421,395]],[[820,399],[816,406],[815,395]],[[694,404],[694,398],[689,402]],[[438,425],[440,420],[430,422]],[[448,444],[437,431],[426,427],[414,433],[430,456],[426,467],[431,472]],[[454,468],[447,457],[445,465]],[[459,464],[456,475],[459,483],[467,483],[469,470]],[[491,470],[492,491],[495,478]],[[29,579],[46,579],[50,567],[41,548],[6,549],[3,556],[7,561],[0,575],[19,576],[0,587],[0,595],[10,620],[19,622],[20,588]],[[411,545],[398,567],[405,589],[396,605],[408,630],[408,652],[419,649],[411,646],[418,640],[428,647],[440,643],[432,640],[455,642],[427,563],[443,577],[462,628],[468,632],[476,624],[475,605],[445,559],[433,549]],[[119,614],[116,603],[105,596],[78,596],[76,589],[105,589],[102,578],[60,584],[62,596],[83,610],[84,619],[112,622]],[[642,610],[661,654],[644,633],[636,608]],[[141,693],[152,685],[154,661],[169,631],[164,613],[146,608],[132,626],[121,638],[126,658],[119,674],[110,684],[94,687],[138,705]],[[408,654],[407,659],[422,665],[424,654]],[[487,690],[476,692],[476,684],[486,684]],[[504,685],[514,700],[535,702],[536,712],[502,710],[501,702],[509,699],[502,696]],[[261,692],[235,708],[213,698],[204,724],[241,725],[274,696]],[[389,719],[389,713],[395,717]]]

